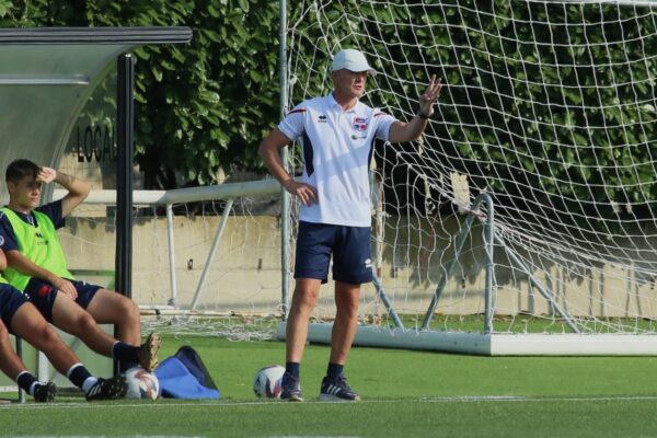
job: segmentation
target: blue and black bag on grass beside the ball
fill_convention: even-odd
[[[164,359],[154,371],[162,396],[168,399],[219,399],[219,390],[200,356],[185,345]]]

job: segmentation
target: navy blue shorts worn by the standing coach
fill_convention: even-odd
[[[372,280],[369,227],[299,222],[295,278],[326,283],[333,255],[333,279],[349,285]]]

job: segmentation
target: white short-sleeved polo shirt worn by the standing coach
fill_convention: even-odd
[[[299,220],[369,227],[369,163],[376,138],[388,140],[396,118],[357,102],[344,111],[333,94],[303,101],[278,129],[302,145],[302,181],[318,191],[318,203],[301,205]]]

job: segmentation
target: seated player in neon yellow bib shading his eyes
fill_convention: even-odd
[[[9,267],[4,277],[30,297],[46,321],[79,337],[92,350],[114,357],[120,371],[140,365],[147,371],[158,366],[160,335],[151,333],[139,346],[139,308],[127,297],[100,286],[74,280],[67,269],[57,228],[89,195],[89,183],[15,160],[7,168],[9,206],[0,209],[0,249]],[[68,189],[60,200],[37,207],[42,184],[56,182]],[[114,324],[116,338],[97,325]]]

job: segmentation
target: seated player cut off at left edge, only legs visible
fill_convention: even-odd
[[[0,272],[5,267],[7,260],[0,251]],[[116,400],[125,396],[126,381],[123,376],[111,379],[93,377],[27,297],[0,276],[0,369],[9,378],[15,379],[21,389],[34,396],[34,401],[55,401],[57,387],[53,382],[39,382],[27,370],[11,346],[10,332],[44,351],[55,369],[84,392],[87,400]]]

